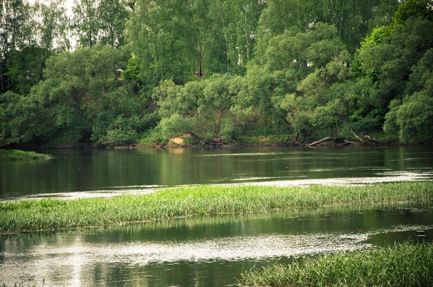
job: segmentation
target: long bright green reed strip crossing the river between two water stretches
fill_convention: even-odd
[[[160,221],[183,216],[266,212],[294,207],[371,205],[433,200],[433,182],[362,187],[176,187],[143,196],[0,203],[0,232],[57,230]]]

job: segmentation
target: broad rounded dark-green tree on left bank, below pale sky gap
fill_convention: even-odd
[[[116,89],[116,68],[120,65],[121,53],[102,45],[48,58],[46,80],[33,86],[28,95],[40,109],[36,117],[47,117],[48,124],[42,127],[49,127],[35,137],[68,145],[89,142],[98,118],[95,111],[103,95]]]

